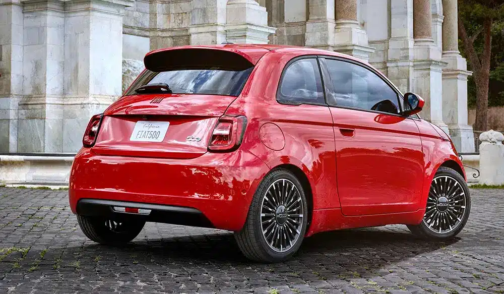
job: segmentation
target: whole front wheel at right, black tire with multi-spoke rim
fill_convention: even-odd
[[[439,183],[437,183],[437,180],[439,180]],[[443,184],[443,180],[445,180],[445,184]],[[452,180],[455,180],[458,185],[453,185],[452,189],[455,190],[446,191],[449,190],[449,183],[452,183]],[[445,190],[443,187],[448,188]],[[453,199],[450,197],[451,195],[455,195]],[[434,196],[440,197],[435,199]],[[448,206],[445,211],[439,210],[445,209],[445,207],[440,207],[441,205],[447,205],[444,199],[440,198],[446,198],[448,200]],[[426,211],[422,222],[418,225],[408,225],[408,229],[416,234],[416,236],[428,240],[443,241],[457,236],[466,225],[469,213],[471,212],[471,196],[467,183],[462,175],[449,167],[439,167],[431,184],[428,201],[430,202],[426,204]],[[461,213],[462,208],[464,210]],[[429,209],[433,210],[433,212],[429,213]],[[454,212],[452,212],[452,209]],[[456,209],[459,210],[456,211]],[[439,216],[439,219],[436,218],[436,215]],[[454,223],[451,223],[451,221],[454,221]],[[436,223],[439,226],[440,232],[437,232]],[[446,231],[445,229],[442,230],[442,228],[446,228]]]

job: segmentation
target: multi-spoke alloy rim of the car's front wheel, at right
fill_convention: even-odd
[[[439,175],[430,185],[423,222],[435,233],[450,233],[464,219],[466,202],[460,183],[449,175]]]

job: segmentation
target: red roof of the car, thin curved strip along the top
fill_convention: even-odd
[[[316,49],[316,48],[310,48],[310,47],[301,47],[301,46],[292,46],[292,45],[273,45],[273,44],[218,44],[218,45],[187,45],[187,46],[177,46],[177,47],[168,47],[168,48],[162,48],[162,49],[157,49],[153,50],[149,53],[146,54],[146,57],[153,54],[153,53],[158,53],[158,52],[163,52],[163,51],[170,51],[170,50],[179,50],[179,49],[196,49],[196,48],[201,48],[201,49],[213,49],[213,50],[222,50],[222,51],[230,51],[230,52],[235,52],[238,53],[239,55],[243,56],[248,60],[251,64],[256,65],[257,62],[260,60],[260,58],[268,53],[269,51],[275,51],[275,52],[297,52],[299,55],[308,55],[308,54],[313,54],[313,55],[331,55],[331,56],[336,56],[336,57],[342,57],[342,58],[347,58],[349,60],[353,61],[358,61],[361,63],[366,63],[362,60],[359,60],[358,58],[355,58],[350,55],[334,52],[334,51],[329,51],[329,50],[322,50],[322,49]]]

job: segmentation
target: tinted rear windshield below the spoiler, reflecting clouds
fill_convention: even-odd
[[[210,94],[238,96],[253,68],[231,71],[219,68],[177,69],[163,72],[146,70],[124,96],[137,95],[135,90],[148,84],[167,84],[173,94]]]

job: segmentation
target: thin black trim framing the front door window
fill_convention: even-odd
[[[401,91],[396,87],[396,85],[392,84],[388,79],[384,79],[382,74],[379,73],[378,71],[374,70],[373,68],[369,67],[368,65],[364,63],[360,63],[358,61],[350,60],[344,57],[338,57],[338,56],[331,56],[331,55],[317,55],[317,58],[320,59],[319,65],[322,67],[321,68],[321,73],[322,73],[322,80],[323,80],[323,85],[324,85],[324,79],[330,79],[329,77],[329,67],[326,64],[326,59],[329,60],[337,60],[341,62],[346,62],[346,63],[351,63],[356,66],[363,67],[366,70],[369,70],[373,74],[375,74],[377,77],[379,77],[382,81],[384,81],[397,95],[397,104],[399,105],[400,112],[403,111],[403,105],[401,105],[401,100],[399,97],[404,97],[404,95],[401,93]],[[325,89],[324,89],[325,91]],[[327,93],[324,92],[324,97],[327,97]],[[403,98],[404,99],[404,98]],[[421,117],[418,114],[415,114],[415,116],[404,116],[400,113],[390,113],[390,112],[384,112],[384,111],[377,111],[377,110],[372,110],[372,109],[364,109],[364,108],[359,108],[359,107],[351,107],[351,106],[342,106],[342,105],[333,105],[328,103],[326,99],[326,104],[329,107],[337,107],[337,108],[345,108],[345,109],[352,109],[352,110],[360,110],[360,111],[366,111],[366,112],[372,112],[372,113],[380,113],[380,114],[388,114],[388,115],[393,115],[393,116],[399,116],[399,117],[404,117],[406,119],[412,119],[416,121],[421,121]]]

